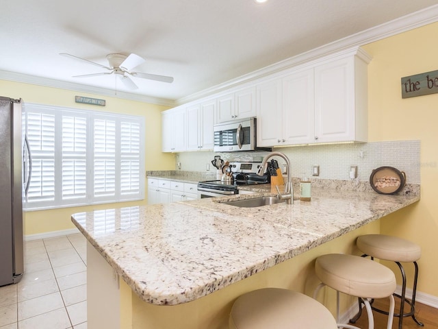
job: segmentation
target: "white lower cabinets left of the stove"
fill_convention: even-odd
[[[198,199],[197,184],[148,178],[148,204],[168,204],[194,199]]]

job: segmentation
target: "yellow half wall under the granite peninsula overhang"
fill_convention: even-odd
[[[278,287],[301,291],[309,296],[320,283],[315,276],[315,259],[323,254],[345,253],[360,255],[356,247],[357,236],[378,234],[380,221],[374,221],[357,230],[339,236],[339,238],[315,247],[285,262],[261,271],[249,278],[240,280],[228,287],[193,302],[175,306],[157,306],[140,300],[130,289],[120,289],[120,304],[127,306],[121,310],[123,324],[121,328],[131,329],[227,329],[228,318],[233,302],[240,295],[264,287]],[[125,286],[121,282],[120,287]],[[318,300],[336,314],[336,293],[324,288],[318,294]],[[357,303],[357,298],[342,295],[342,313]],[[129,314],[131,311],[131,314]]]

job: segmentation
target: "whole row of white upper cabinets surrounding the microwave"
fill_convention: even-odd
[[[370,60],[348,49],[166,111],[163,151],[213,149],[214,123],[255,116],[257,147],[366,142]]]

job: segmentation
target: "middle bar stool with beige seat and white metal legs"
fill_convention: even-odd
[[[374,317],[370,300],[389,297],[387,329],[391,329],[395,304],[392,294],[396,291],[396,276],[394,276],[393,271],[368,258],[346,254],[326,254],[316,258],[315,273],[322,283],[315,289],[314,298],[324,286],[337,291],[338,322],[339,292],[360,297],[363,300],[368,313],[369,329],[374,329]],[[341,328],[357,328],[348,324],[338,324],[338,326]]]

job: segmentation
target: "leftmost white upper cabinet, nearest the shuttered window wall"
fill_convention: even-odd
[[[162,112],[162,151],[185,151],[185,108]]]

